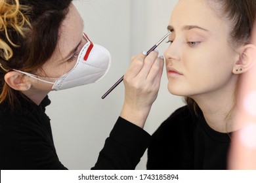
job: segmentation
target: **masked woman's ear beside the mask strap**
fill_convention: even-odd
[[[14,90],[27,91],[31,88],[31,83],[26,80],[24,74],[11,71],[5,75],[5,82]]]

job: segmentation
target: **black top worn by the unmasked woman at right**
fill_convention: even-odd
[[[230,134],[207,125],[202,112],[176,110],[152,135],[147,169],[226,169]]]

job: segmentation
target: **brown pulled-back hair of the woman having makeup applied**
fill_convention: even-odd
[[[232,29],[228,41],[230,46],[241,46],[249,43],[251,38],[251,31],[255,23],[256,16],[256,1],[255,0],[205,0],[209,7],[213,8],[217,14],[226,20],[232,22]],[[236,89],[239,86],[239,81],[236,84]],[[236,92],[234,99],[236,99]],[[185,98],[190,110],[198,114],[200,108],[197,103],[190,97]],[[234,101],[236,105],[236,101]],[[233,107],[234,108],[234,107]],[[233,109],[232,109],[233,110]],[[227,118],[229,117],[229,112]]]

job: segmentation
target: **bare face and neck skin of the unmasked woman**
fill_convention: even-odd
[[[231,25],[205,0],[181,0],[171,15],[171,44],[165,51],[169,92],[194,99],[207,124],[223,133],[240,128],[232,123],[234,116],[226,116],[247,61],[241,59],[247,47],[230,43]]]

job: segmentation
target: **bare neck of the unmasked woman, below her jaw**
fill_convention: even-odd
[[[215,92],[192,97],[202,110],[207,124],[215,131],[229,133],[242,126],[234,120],[238,117],[235,91],[236,84],[233,84]]]

